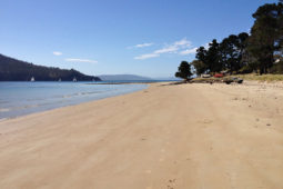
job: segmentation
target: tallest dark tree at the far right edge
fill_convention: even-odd
[[[274,52],[282,49],[282,3],[264,4],[253,13],[255,21],[247,50],[254,57],[260,73],[270,72],[274,63]]]

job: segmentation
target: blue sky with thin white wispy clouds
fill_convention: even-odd
[[[0,53],[88,74],[172,77],[272,0],[0,0]]]

